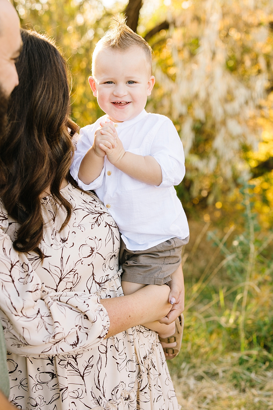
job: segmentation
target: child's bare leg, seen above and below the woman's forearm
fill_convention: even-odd
[[[142,285],[141,283],[134,283],[134,282],[126,282],[125,280],[121,281],[122,289],[124,295],[131,295],[134,292],[137,292],[139,289],[141,289],[144,286],[147,285]],[[174,335],[175,333],[175,323],[171,323],[170,325],[165,325],[164,323],[159,323],[159,321],[154,321],[150,323],[144,323],[146,328],[154,330],[155,332],[158,333],[159,337],[169,337],[171,335]],[[175,347],[176,342],[174,343],[162,343],[163,347]],[[165,353],[166,356],[169,356],[167,353]]]

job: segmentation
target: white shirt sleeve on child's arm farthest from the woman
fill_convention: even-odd
[[[185,155],[183,144],[174,124],[166,118],[156,133],[151,146],[151,156],[162,170],[161,188],[178,185],[185,176]]]

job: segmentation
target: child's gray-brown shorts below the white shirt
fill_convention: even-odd
[[[171,238],[146,249],[130,251],[124,241],[120,241],[120,265],[122,280],[144,285],[163,285],[171,280],[171,274],[181,263],[182,246],[186,245],[190,235],[185,239]]]

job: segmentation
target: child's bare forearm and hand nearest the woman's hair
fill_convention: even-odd
[[[100,123],[101,127],[95,132],[94,143],[81,161],[78,177],[86,185],[95,181],[104,166],[105,151],[99,145],[103,144],[108,149],[115,147],[115,134],[108,124]]]

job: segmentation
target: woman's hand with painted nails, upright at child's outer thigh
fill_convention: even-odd
[[[169,302],[172,305],[171,311],[162,319],[160,323],[169,325],[184,311],[185,309],[185,287],[182,265],[171,275],[171,282],[169,282],[171,291],[169,293]]]

